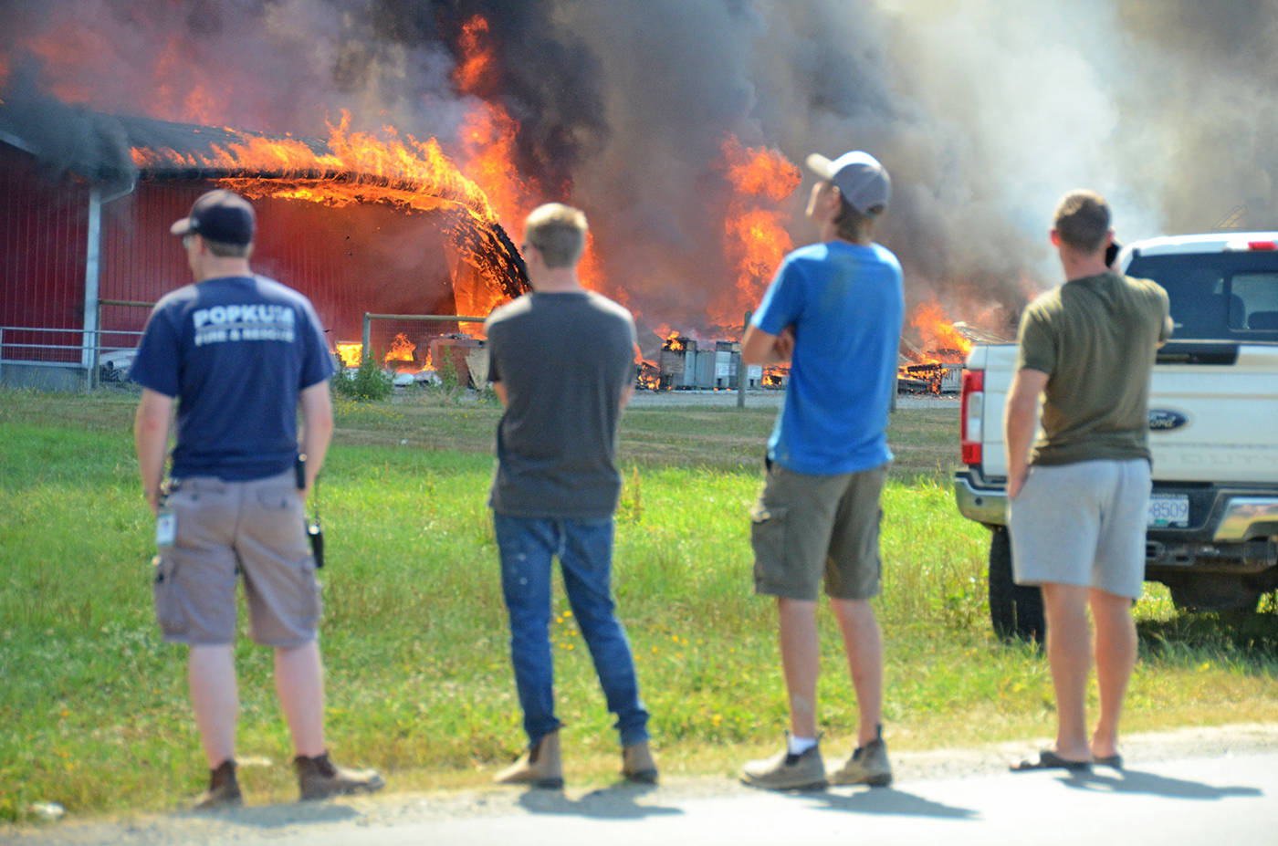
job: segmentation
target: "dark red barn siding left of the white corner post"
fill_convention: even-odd
[[[88,198],[88,184],[0,144],[0,358],[81,360]]]

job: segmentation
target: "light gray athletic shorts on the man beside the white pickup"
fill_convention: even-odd
[[[1008,505],[1017,584],[1072,584],[1140,597],[1149,461],[1031,466]]]

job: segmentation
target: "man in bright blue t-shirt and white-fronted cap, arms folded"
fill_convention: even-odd
[[[790,739],[741,780],[801,790],[887,785],[883,645],[869,599],[879,592],[879,495],[892,452],[887,417],[905,300],[896,256],[874,243],[891,181],[870,155],[808,157],[819,180],[808,217],[820,243],[786,256],[741,342],[746,364],[790,363],[768,438],[753,520],[755,592],[777,597]],[[860,712],[858,745],[829,778],[817,745],[817,594],[822,579],[843,633]]]

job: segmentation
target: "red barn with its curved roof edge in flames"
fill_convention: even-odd
[[[312,299],[335,353],[367,340],[389,357],[403,336],[422,358],[399,364],[419,369],[433,337],[475,327],[382,317],[366,330],[366,313],[483,317],[527,290],[483,193],[433,142],[345,125],[328,141],[281,138],[5,102],[0,385],[118,377],[151,304],[189,281],[169,224],[212,187],[254,202],[254,270]]]

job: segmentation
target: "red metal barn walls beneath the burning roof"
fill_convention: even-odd
[[[155,303],[190,281],[180,240],[169,225],[187,215],[208,181],[142,180],[102,206],[98,296]],[[83,327],[89,187],[37,174],[27,153],[0,144],[0,326]],[[254,271],[311,298],[330,346],[359,341],[364,312],[455,313],[451,249],[429,215],[386,206],[331,208],[307,201],[258,199]],[[146,307],[104,305],[104,348],[132,348]],[[456,325],[374,322],[373,348],[405,332],[424,355],[431,335]],[[37,340],[31,340],[37,339]],[[15,342],[69,349],[15,348]],[[79,362],[78,331],[5,330],[4,358]]]

